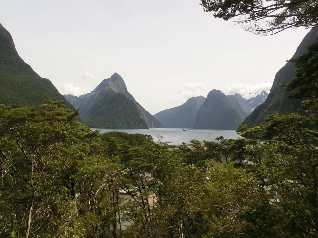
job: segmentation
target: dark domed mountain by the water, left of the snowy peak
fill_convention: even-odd
[[[197,129],[236,130],[248,116],[247,102],[238,94],[225,96],[213,89],[197,112],[193,125]],[[249,109],[251,111],[251,109]]]

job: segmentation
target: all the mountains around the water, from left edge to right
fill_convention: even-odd
[[[306,52],[315,43],[317,30],[311,30],[302,40],[293,57]],[[92,128],[197,128],[237,129],[239,124],[253,126],[264,123],[264,117],[274,113],[305,114],[301,99],[288,99],[280,83],[294,77],[294,65],[287,62],[281,68],[268,95],[265,91],[226,96],[213,89],[207,95],[192,97],[183,105],[152,116],[128,92],[117,73],[104,79],[91,93],[82,96],[61,95],[50,80],[41,78],[18,55],[10,33],[0,24],[0,103],[13,108],[38,107],[43,96],[52,100],[67,100],[66,108],[80,109],[80,118]],[[69,103],[70,102],[70,103]],[[73,106],[71,105],[73,104]]]

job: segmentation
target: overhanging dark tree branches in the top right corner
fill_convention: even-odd
[[[247,31],[272,35],[288,28],[311,28],[318,23],[315,0],[201,0],[204,11],[229,20],[239,17]]]

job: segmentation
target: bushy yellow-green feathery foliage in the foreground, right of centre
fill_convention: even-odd
[[[234,168],[233,163],[211,162],[208,169],[209,236],[274,237],[269,195],[256,186],[257,177]]]

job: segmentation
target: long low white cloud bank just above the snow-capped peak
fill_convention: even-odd
[[[236,93],[238,94],[245,94],[245,93],[253,93],[253,92],[258,92],[261,90],[265,90],[266,92],[269,93],[269,91],[272,88],[272,83],[261,83],[261,84],[232,84],[232,85],[225,85],[221,91],[225,95],[234,95]]]

